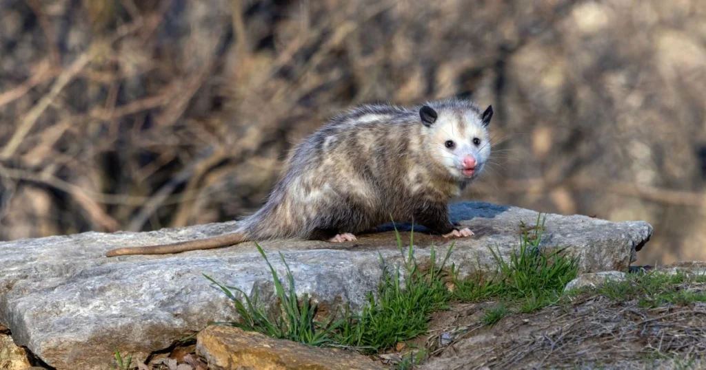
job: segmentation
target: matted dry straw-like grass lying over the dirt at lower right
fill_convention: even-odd
[[[550,316],[554,323],[542,333],[516,338],[517,343],[504,348],[505,356],[487,364],[499,369],[513,364],[561,368],[603,364],[615,369],[622,362],[706,353],[706,304],[642,309],[595,298],[572,308],[571,314],[554,309],[523,318],[542,321]]]

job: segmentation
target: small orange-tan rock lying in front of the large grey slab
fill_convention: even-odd
[[[361,354],[310,347],[229,326],[209,326],[196,340],[196,353],[208,361],[211,370],[386,369]]]

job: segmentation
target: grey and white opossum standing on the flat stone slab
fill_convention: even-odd
[[[448,202],[480,175],[491,153],[493,107],[462,99],[413,107],[365,104],[334,116],[294,148],[265,205],[234,233],[113,249],[169,254],[273,239],[356,240],[394,221],[445,238],[473,235],[450,221]]]

